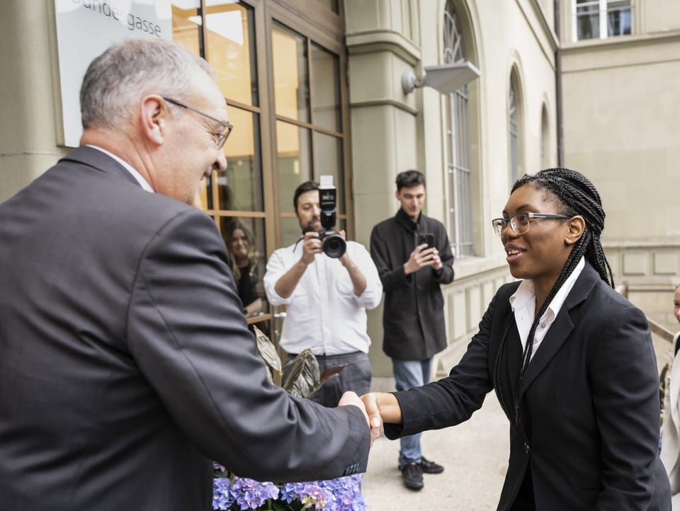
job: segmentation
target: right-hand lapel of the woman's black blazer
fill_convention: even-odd
[[[567,299],[562,304],[562,309],[560,309],[553,325],[550,326],[550,330],[545,335],[543,343],[540,343],[538,350],[536,350],[536,355],[534,355],[526,368],[519,389],[520,397],[526,392],[526,389],[528,389],[528,386],[532,384],[536,377],[543,372],[543,369],[548,366],[550,360],[553,360],[557,351],[562,348],[562,345],[567,341],[574,328],[576,328],[577,323],[574,323],[574,320],[578,321],[578,318],[574,318],[572,309],[584,302],[599,278],[594,268],[586,261],[585,268],[567,295]]]

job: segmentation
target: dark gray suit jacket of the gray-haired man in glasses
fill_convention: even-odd
[[[365,471],[358,408],[268,383],[203,212],[72,151],[0,204],[0,507],[210,509],[239,476]]]

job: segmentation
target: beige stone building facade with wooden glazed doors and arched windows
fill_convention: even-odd
[[[252,231],[261,270],[299,236],[297,184],[333,176],[338,227],[368,246],[373,225],[397,211],[397,173],[418,168],[425,212],[456,255],[444,289],[449,348],[438,357],[448,370],[511,280],[490,220],[517,177],[563,164],[603,195],[617,282],[666,319],[680,266],[676,1],[170,3],[174,40],[215,68],[235,126],[229,170],[212,177],[203,207],[223,233],[235,220]],[[5,1],[0,24],[5,200],[69,149],[59,142],[54,2]],[[428,69],[458,65],[477,73],[455,91],[429,85]],[[425,86],[405,88],[411,75]],[[251,321],[276,334],[280,312],[265,307]],[[381,316],[369,314],[370,357],[387,376]]]

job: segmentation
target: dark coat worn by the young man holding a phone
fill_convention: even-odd
[[[437,275],[430,267],[410,275],[404,263],[417,245],[418,234],[431,233],[443,268]],[[441,284],[453,281],[453,253],[446,229],[424,214],[415,224],[399,208],[390,219],[373,227],[370,255],[385,291],[382,309],[382,350],[397,360],[426,360],[447,345]]]

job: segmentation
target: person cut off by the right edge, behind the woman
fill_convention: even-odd
[[[680,284],[673,294],[673,315],[680,323]],[[661,461],[668,471],[673,494],[673,509],[680,510],[680,331],[673,337],[673,363],[664,391],[664,420],[661,427]]]

